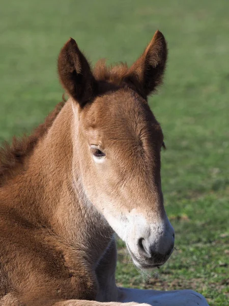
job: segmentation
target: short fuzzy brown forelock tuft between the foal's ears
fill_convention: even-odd
[[[119,85],[126,76],[128,66],[126,63],[115,65],[106,65],[106,60],[99,60],[93,70],[94,77],[97,81],[112,82]]]

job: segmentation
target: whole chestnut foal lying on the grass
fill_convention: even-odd
[[[159,31],[130,68],[99,62],[92,71],[73,39],[61,50],[68,101],[1,154],[1,306],[207,305],[189,290],[115,284],[114,232],[139,268],[164,264],[174,248],[163,134],[147,104],[166,57]]]

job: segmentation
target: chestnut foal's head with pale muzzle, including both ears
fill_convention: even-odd
[[[157,31],[130,68],[100,62],[92,71],[73,39],[58,61],[74,114],[73,175],[141,268],[162,265],[174,248],[161,190],[163,134],[147,103],[166,57]]]

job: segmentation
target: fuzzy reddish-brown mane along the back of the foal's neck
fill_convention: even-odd
[[[23,169],[25,158],[31,155],[38,141],[47,133],[64,103],[65,100],[56,105],[44,123],[40,124],[31,135],[25,135],[21,138],[14,137],[11,144],[5,142],[4,146],[0,148],[0,186],[4,184],[6,179]]]

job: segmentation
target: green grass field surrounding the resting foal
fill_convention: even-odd
[[[120,243],[117,282],[194,289],[211,306],[229,299],[228,13],[227,0],[2,0],[0,10],[0,141],[30,131],[61,100],[56,58],[70,36],[93,64],[132,63],[164,33],[168,68],[150,104],[165,134],[162,186],[178,250],[142,277]]]

